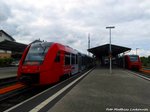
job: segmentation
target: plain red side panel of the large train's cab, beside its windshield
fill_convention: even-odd
[[[57,45],[53,45],[45,59],[43,64],[41,65],[41,71],[40,71],[40,84],[48,84],[48,83],[55,83],[59,80],[59,76],[62,73],[62,67],[61,62],[59,59],[56,59],[58,57],[59,49]],[[55,69],[57,68],[57,70]]]

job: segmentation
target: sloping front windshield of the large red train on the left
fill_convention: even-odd
[[[26,55],[24,64],[25,65],[39,65],[43,62],[44,57],[49,47],[40,44],[32,44]]]

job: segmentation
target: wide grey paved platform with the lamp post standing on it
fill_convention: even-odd
[[[35,99],[47,97],[42,103],[37,100],[33,102],[32,98],[32,101],[28,100],[9,111],[15,112],[18,108],[22,111],[28,109],[30,112],[148,112],[150,111],[149,85],[150,81],[128,70],[115,68],[112,74],[109,74],[108,69],[97,67],[53,106],[50,106],[50,100],[47,100],[53,98],[49,98],[49,94],[42,93],[46,96],[40,94],[34,97]],[[36,106],[33,107],[32,105],[35,104]]]

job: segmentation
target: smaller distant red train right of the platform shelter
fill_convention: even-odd
[[[142,68],[142,63],[138,55],[125,55],[120,57],[117,59],[117,64],[120,67],[132,70],[140,70]]]

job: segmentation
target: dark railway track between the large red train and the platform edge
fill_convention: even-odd
[[[42,94],[43,91],[47,91],[48,89],[51,89],[50,93],[53,95],[54,93],[56,93],[57,91],[59,91],[60,89],[62,89],[63,87],[65,87],[66,85],[68,85],[69,83],[77,79],[78,77],[80,77],[82,74],[83,73],[79,73],[77,75],[74,75],[66,80],[63,80],[53,85],[48,85],[44,87],[31,87],[31,88],[26,87],[24,89],[17,90],[16,92],[11,93],[12,94],[11,96],[9,96],[8,98],[6,97],[0,102],[0,112],[5,111],[6,109],[11,108],[21,102],[25,102],[31,97],[37,96],[37,94],[38,95]]]

